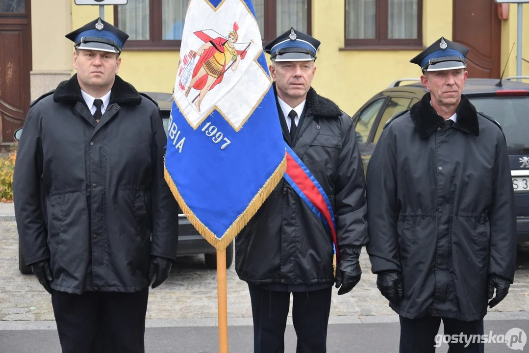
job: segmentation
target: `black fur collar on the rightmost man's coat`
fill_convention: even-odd
[[[421,101],[414,104],[410,110],[415,129],[417,130],[419,137],[423,139],[428,137],[428,135],[444,123],[444,119],[437,114],[430,104],[430,99],[430,92],[428,92],[423,96]],[[464,95],[461,95],[461,102],[455,112],[458,114],[458,121],[454,125],[454,128],[479,136],[479,123],[476,108]]]

